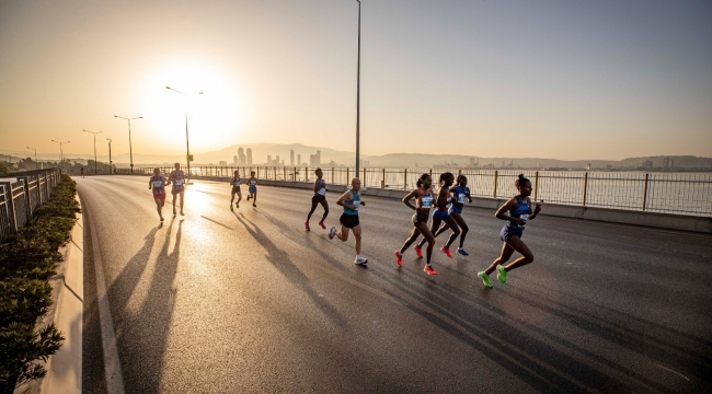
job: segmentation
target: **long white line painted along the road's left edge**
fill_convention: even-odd
[[[87,207],[83,207],[88,210]],[[91,212],[91,210],[89,210]],[[101,253],[99,251],[99,236],[96,235],[95,221],[92,215],[85,213],[91,223],[92,252],[94,254],[94,270],[96,271],[96,299],[99,300],[99,321],[102,331],[102,348],[104,350],[104,373],[106,375],[106,392],[108,394],[124,394],[124,376],[116,348],[116,335],[114,334],[114,321],[112,310],[108,306],[106,294],[106,281]]]

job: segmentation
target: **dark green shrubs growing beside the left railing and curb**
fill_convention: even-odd
[[[36,220],[0,243],[0,393],[12,393],[47,371],[46,361],[64,341],[54,324],[35,331],[51,305],[48,279],[61,262],[59,247],[70,241],[80,212],[76,183],[68,175],[51,198],[36,211]]]

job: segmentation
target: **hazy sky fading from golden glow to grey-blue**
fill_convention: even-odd
[[[353,0],[0,1],[0,150],[354,150]],[[165,90],[204,95],[184,97]],[[712,1],[361,5],[361,152],[712,157]]]

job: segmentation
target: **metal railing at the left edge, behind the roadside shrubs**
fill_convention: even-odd
[[[49,169],[0,178],[0,241],[34,220],[37,208],[51,196],[59,175],[59,170]]]

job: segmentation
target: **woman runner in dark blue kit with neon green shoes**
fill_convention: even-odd
[[[482,282],[486,287],[492,287],[490,275],[495,269],[497,270],[497,280],[502,283],[506,283],[508,271],[533,262],[533,254],[521,241],[521,235],[524,234],[524,228],[527,224],[527,221],[536,218],[539,211],[541,211],[541,205],[537,202],[532,212],[531,200],[529,199],[529,195],[531,195],[531,182],[529,182],[524,174],[519,174],[515,185],[517,186],[519,194],[509,198],[507,202],[497,209],[497,213],[495,213],[497,219],[507,221],[507,224],[505,224],[499,232],[499,239],[504,242],[502,245],[502,254],[492,263],[492,265],[490,265],[490,267],[487,267],[487,269],[478,273],[478,276],[482,278]],[[519,252],[521,257],[509,263],[507,266],[504,266],[504,263],[506,263],[515,252]]]

